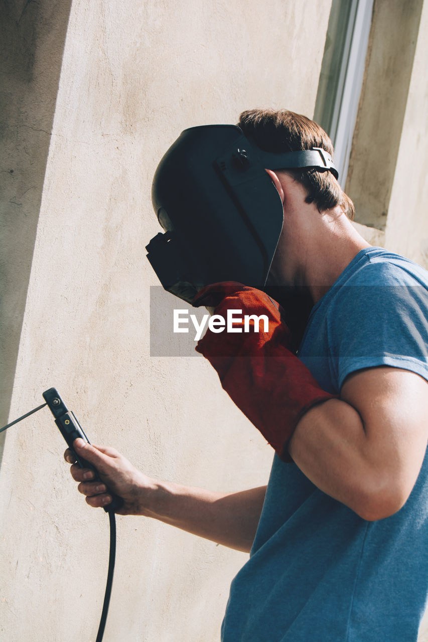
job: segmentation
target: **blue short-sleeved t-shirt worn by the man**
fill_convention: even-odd
[[[361,250],[312,309],[298,356],[332,393],[380,365],[428,379],[428,273],[382,248]],[[416,642],[427,593],[426,454],[404,507],[372,522],[275,455],[222,640]]]

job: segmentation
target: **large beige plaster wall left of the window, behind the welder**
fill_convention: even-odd
[[[157,281],[144,245],[159,231],[150,182],[186,126],[233,123],[253,106],[312,115],[330,2],[74,0],[64,46],[65,6],[43,0],[31,9],[33,70],[26,76],[22,63],[3,134],[3,169],[15,177],[1,175],[9,181],[3,259],[15,261],[4,280],[12,333],[4,407],[14,419],[56,386],[89,438],[148,474],[213,489],[265,483],[271,451],[208,364],[150,358]],[[25,7],[16,3],[11,33]],[[6,436],[2,641],[95,637],[108,520],[76,493],[63,450],[46,409]],[[245,559],[161,523],[119,517],[105,641],[218,640],[229,582]]]

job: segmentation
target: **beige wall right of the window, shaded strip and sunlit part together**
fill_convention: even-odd
[[[362,236],[425,268],[428,268],[427,30],[427,2],[375,0],[366,76],[346,182]]]

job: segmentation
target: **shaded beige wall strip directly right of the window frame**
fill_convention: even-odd
[[[375,0],[346,192],[359,223],[384,230],[397,173],[424,0]],[[426,4],[426,3],[425,3]],[[423,78],[418,76],[423,85]],[[423,116],[421,112],[420,117]],[[416,124],[416,123],[415,123]]]

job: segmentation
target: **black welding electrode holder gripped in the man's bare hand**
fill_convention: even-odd
[[[80,465],[80,468],[91,469],[91,471],[94,471],[94,473],[96,474],[96,477],[93,481],[100,481],[98,471],[96,471],[95,467],[92,464],[89,464],[89,462],[87,462],[82,457],[79,457],[76,454],[75,449],[73,448],[73,442],[78,437],[82,438],[88,444],[91,443],[86,437],[82,426],[80,426],[73,412],[67,409],[66,404],[64,404],[64,401],[62,401],[60,395],[58,395],[58,391],[56,390],[56,388],[49,388],[49,390],[46,390],[43,393],[43,398],[48,404],[49,410],[51,410],[51,413],[55,417],[55,424],[57,424],[58,428],[60,429],[60,433],[66,440],[67,446],[73,451],[76,457],[76,461],[78,465]],[[123,506],[123,499],[118,495],[110,492],[108,489],[107,492],[111,494],[112,501],[108,506],[103,507],[105,512],[107,513],[111,510],[116,511],[121,508],[121,506]]]

